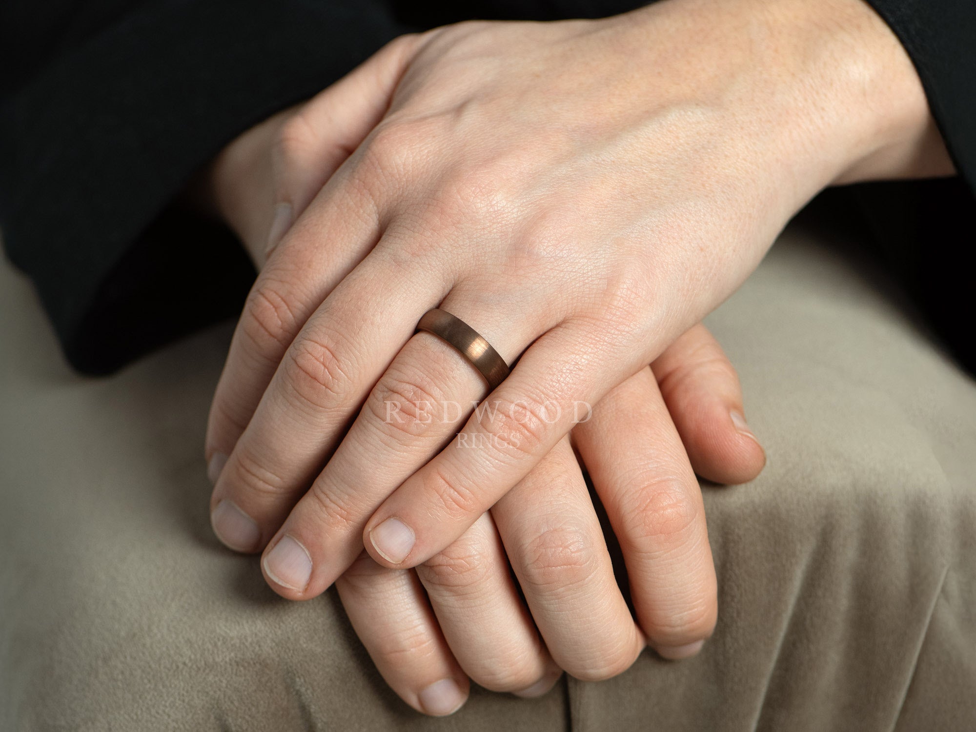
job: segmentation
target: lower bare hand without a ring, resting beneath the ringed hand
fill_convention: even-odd
[[[335,91],[241,136],[197,186],[198,193],[209,188],[211,205],[259,265],[274,228],[273,203],[297,201],[300,214],[310,189],[344,159],[333,128],[319,128],[330,118],[321,112]],[[299,113],[302,130],[316,134],[288,130]],[[363,554],[337,582],[358,634],[407,703],[427,713],[453,711],[467,694],[468,675],[489,689],[534,696],[561,673],[551,656],[577,676],[603,678],[630,666],[645,636],[662,655],[680,658],[711,633],[714,573],[688,455],[700,474],[735,483],[752,479],[764,457],[742,427],[735,372],[704,328],[680,338],[654,369],[664,402],[645,369],[604,398],[574,433],[579,451],[592,456],[593,482],[627,540],[623,553],[640,628],[617,589],[576,460],[560,444],[496,506],[494,518],[483,515],[416,573],[380,567]],[[657,508],[644,513],[629,509],[652,503]],[[642,516],[636,533],[628,515]],[[516,557],[534,622],[512,584],[499,533]],[[648,548],[666,545],[671,550],[649,568]],[[566,553],[575,561],[564,563]],[[559,565],[547,566],[547,558]]]

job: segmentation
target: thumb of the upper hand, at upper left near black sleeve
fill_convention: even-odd
[[[275,200],[265,257],[383,119],[421,42],[416,34],[390,41],[281,125],[271,155]]]

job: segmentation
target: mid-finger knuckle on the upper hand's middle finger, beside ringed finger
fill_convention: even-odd
[[[283,365],[287,386],[301,403],[315,410],[341,404],[351,385],[338,346],[322,337],[293,344]]]

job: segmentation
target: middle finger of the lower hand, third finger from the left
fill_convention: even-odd
[[[614,579],[568,438],[492,513],[532,617],[559,667],[590,681],[630,668],[644,638]]]

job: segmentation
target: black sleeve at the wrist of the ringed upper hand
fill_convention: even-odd
[[[931,332],[976,374],[972,266],[976,245],[976,0],[868,0],[921,79],[958,178],[868,183],[851,194],[876,254]]]

